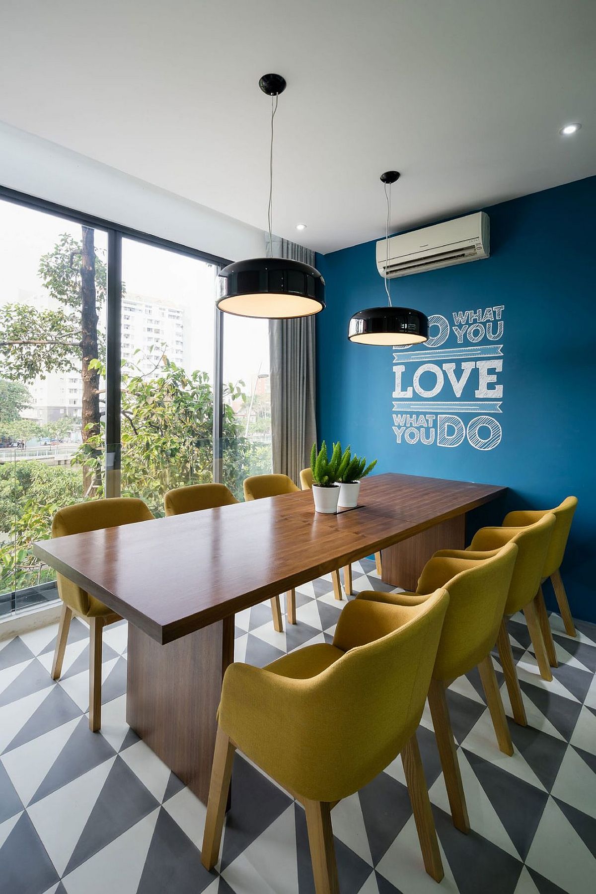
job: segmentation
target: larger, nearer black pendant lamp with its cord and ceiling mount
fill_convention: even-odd
[[[277,99],[285,90],[280,74],[264,74],[259,81],[271,97],[271,146],[269,151],[269,250],[272,251],[271,208],[273,204],[273,121]],[[219,274],[217,307],[235,316],[290,319],[311,316],[325,308],[325,280],[309,264],[286,257],[253,257],[229,264]]]

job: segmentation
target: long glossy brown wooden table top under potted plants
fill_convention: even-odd
[[[314,512],[310,491],[41,540],[34,554],[168,643],[494,500],[505,487],[387,473],[361,505]]]

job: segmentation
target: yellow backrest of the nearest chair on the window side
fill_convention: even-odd
[[[64,537],[82,534],[83,531],[98,531],[105,527],[132,525],[137,521],[153,519],[153,513],[142,500],[136,497],[111,497],[106,500],[89,500],[65,506],[55,513],[52,520],[52,536]],[[81,590],[63,575],[57,575],[60,598],[81,615],[89,614],[89,594]]]

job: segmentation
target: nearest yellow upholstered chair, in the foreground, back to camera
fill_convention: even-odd
[[[447,609],[348,603],[333,645],[310,645],[266,668],[231,664],[218,712],[201,860],[217,862],[238,748],[304,805],[317,894],[336,894],[330,810],[401,753],[424,865],[443,877],[415,732]]]

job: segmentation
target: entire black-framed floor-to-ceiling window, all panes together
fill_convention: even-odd
[[[267,321],[216,313],[221,263],[0,196],[0,616],[56,597],[61,506],[270,471]]]

